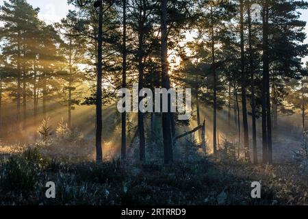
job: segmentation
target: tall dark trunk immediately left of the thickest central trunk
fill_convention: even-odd
[[[142,0],[140,0],[140,6],[142,4]],[[143,43],[144,43],[144,22],[145,22],[145,5],[143,8],[140,8],[140,19],[139,19],[139,34],[138,34],[138,72],[139,72],[139,80],[138,80],[138,94],[143,88],[143,77],[144,77],[144,50],[143,50]],[[142,103],[142,96],[139,96],[139,105]],[[138,130],[139,130],[139,159],[140,162],[145,161],[145,136],[144,136],[144,115],[140,111],[140,107],[138,107]]]

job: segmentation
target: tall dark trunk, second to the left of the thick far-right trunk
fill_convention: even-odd
[[[241,86],[242,86],[242,116],[244,131],[244,154],[245,159],[250,161],[248,119],[246,105],[246,77],[245,77],[245,57],[244,57],[244,0],[240,1],[240,47],[241,47]]]

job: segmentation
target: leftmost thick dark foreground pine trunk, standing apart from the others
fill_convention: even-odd
[[[103,103],[102,103],[102,77],[103,77],[103,1],[99,5],[99,34],[97,39],[97,130],[95,146],[97,151],[97,162],[103,161],[103,150],[101,148],[101,133],[103,128]]]

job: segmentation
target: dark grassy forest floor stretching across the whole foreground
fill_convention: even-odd
[[[308,172],[294,162],[80,162],[26,149],[0,162],[0,205],[308,205]],[[46,198],[48,181],[55,198]],[[251,198],[251,183],[261,198]]]

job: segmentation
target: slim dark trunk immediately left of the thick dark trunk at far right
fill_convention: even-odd
[[[248,44],[249,44],[249,70],[251,72],[251,115],[253,122],[253,163],[258,163],[257,155],[257,123],[255,112],[255,68],[253,66],[253,42],[251,32],[251,1],[247,1],[247,14],[248,14]]]

